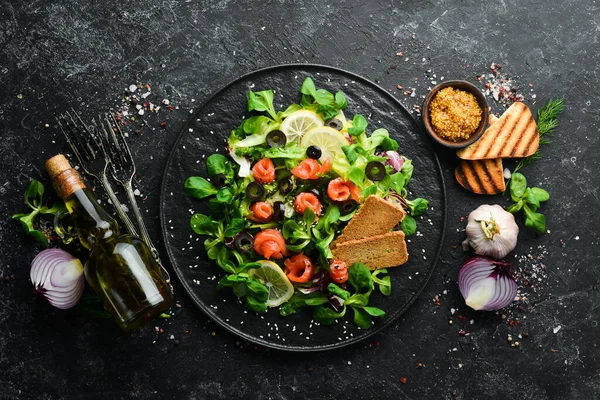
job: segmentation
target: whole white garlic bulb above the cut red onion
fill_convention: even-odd
[[[469,214],[467,239],[476,254],[497,260],[517,245],[519,227],[515,217],[501,206],[484,204]]]

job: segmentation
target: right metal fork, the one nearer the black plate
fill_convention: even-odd
[[[115,117],[110,113],[99,115],[98,125],[99,128],[102,129],[105,139],[107,139],[107,143],[103,148],[106,157],[109,160],[112,176],[125,188],[127,198],[129,199],[133,214],[135,215],[135,219],[141,231],[142,240],[146,242],[152,256],[164,271],[167,283],[170,283],[171,278],[169,272],[164,268],[158,250],[156,250],[156,247],[152,244],[152,240],[150,239],[150,235],[148,234],[148,230],[146,229],[146,225],[142,218],[142,213],[140,212],[135,199],[132,186],[132,180],[135,175],[135,163],[131,151],[129,150],[129,146],[127,145],[127,141],[125,140],[125,134],[115,120]]]

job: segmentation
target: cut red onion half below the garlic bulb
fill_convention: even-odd
[[[510,263],[487,257],[473,257],[458,271],[458,289],[474,310],[495,311],[513,302],[517,283]]]

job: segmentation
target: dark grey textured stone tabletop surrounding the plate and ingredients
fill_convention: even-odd
[[[0,397],[598,398],[599,15],[587,0],[3,2]],[[462,217],[508,200],[460,189],[456,160],[442,153],[449,214],[438,268],[408,312],[367,342],[320,354],[255,348],[211,323],[177,283],[175,315],[133,334],[33,301],[28,268],[38,249],[10,216],[24,211],[27,183],[46,179],[45,159],[67,150],[56,113],[114,110],[136,83],[152,85],[148,101],[170,100],[173,111],[146,114],[151,130],[138,118],[131,138],[142,211],[164,250],[160,180],[190,111],[235,77],[291,62],[358,73],[407,106],[420,104],[433,74],[474,81],[493,62],[534,112],[565,99],[552,143],[523,169],[552,196],[542,207],[549,232],[522,229],[514,252],[517,269],[539,272],[533,288],[522,287],[523,311],[511,307],[503,318],[464,306],[455,282]]]

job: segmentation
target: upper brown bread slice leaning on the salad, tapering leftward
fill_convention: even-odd
[[[342,234],[332,243],[331,248],[349,240],[388,233],[402,221],[404,215],[402,207],[371,195],[348,222]]]

